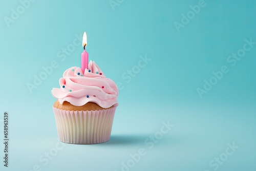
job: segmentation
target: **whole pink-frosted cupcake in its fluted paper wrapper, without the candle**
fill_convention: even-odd
[[[82,74],[83,73],[83,74]],[[95,144],[109,141],[118,106],[118,88],[106,78],[94,61],[84,72],[72,67],[53,88],[53,104],[58,138],[72,144]]]

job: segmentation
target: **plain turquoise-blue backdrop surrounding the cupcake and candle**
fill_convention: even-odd
[[[210,161],[232,142],[239,148],[218,170],[256,169],[256,47],[235,66],[227,62],[245,39],[256,41],[255,1],[205,0],[179,31],[174,23],[199,1],[119,0],[112,8],[108,0],[38,0],[9,24],[5,18],[21,3],[0,2],[0,119],[5,111],[10,115],[9,168],[1,161],[2,170],[33,170],[38,164],[48,171],[119,171],[139,148],[146,155],[130,170],[214,170]],[[59,87],[66,69],[80,66],[82,47],[73,46],[63,61],[58,53],[84,31],[89,58],[122,84],[111,139],[66,144],[44,165],[39,157],[58,144],[51,89]],[[123,79],[145,55],[151,61],[130,81]],[[27,83],[54,60],[58,67],[31,93]],[[197,88],[203,89],[204,80],[222,66],[229,72],[200,98]],[[175,126],[148,148],[144,141],[168,120]],[[0,149],[3,160],[3,143]]]

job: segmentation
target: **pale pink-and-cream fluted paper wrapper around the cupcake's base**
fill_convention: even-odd
[[[99,111],[66,111],[53,107],[59,140],[72,144],[109,141],[116,107]]]

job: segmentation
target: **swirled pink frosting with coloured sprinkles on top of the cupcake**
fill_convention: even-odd
[[[89,62],[89,70],[86,69],[84,73],[79,67],[66,70],[59,79],[60,89],[53,88],[51,91],[53,97],[57,98],[60,104],[68,101],[76,106],[87,102],[97,103],[102,108],[117,106],[118,88],[115,82],[106,78],[94,61]]]

